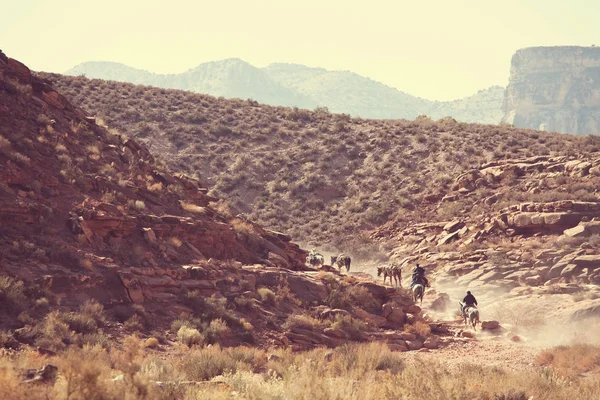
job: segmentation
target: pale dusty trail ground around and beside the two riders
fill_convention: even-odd
[[[353,270],[381,281],[376,267],[374,263],[362,264]],[[409,285],[410,271],[404,271],[403,286]],[[534,368],[536,356],[545,348],[600,343],[600,319],[577,318],[578,312],[600,305],[600,289],[595,285],[518,287],[506,292],[483,285],[471,290],[478,298],[482,320],[497,320],[502,329],[492,334],[479,326],[473,339],[456,338],[437,350],[406,353],[410,362],[435,361],[449,368],[476,364],[523,371]],[[450,296],[450,306],[446,312],[432,311],[431,304],[441,293]],[[454,306],[465,294],[466,288],[440,287],[434,281],[423,300],[423,312],[460,331],[464,326],[455,322],[458,306]]]

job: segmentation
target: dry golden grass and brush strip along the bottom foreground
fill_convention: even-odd
[[[407,361],[381,344],[301,353],[219,346],[190,350],[178,345],[166,356],[129,336],[108,350],[84,346],[56,356],[3,353],[0,388],[13,399],[596,398],[598,378],[577,376],[581,365],[563,364],[567,370],[546,366],[548,354],[576,355],[580,350],[548,350],[539,357],[541,366],[517,372]],[[58,367],[58,378],[45,384],[21,383],[21,371],[48,364]],[[592,367],[597,361],[583,370]]]

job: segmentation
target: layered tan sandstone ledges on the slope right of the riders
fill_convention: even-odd
[[[487,163],[455,178],[437,205],[456,210],[447,220],[398,219],[373,237],[405,269],[423,265],[436,291],[472,290],[509,337],[568,343],[600,315],[599,184],[598,152]]]

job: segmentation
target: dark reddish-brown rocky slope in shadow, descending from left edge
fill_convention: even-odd
[[[56,354],[137,333],[166,349],[408,351],[450,333],[401,290],[308,270],[289,236],[232,215],[2,53],[0,121],[0,346]]]

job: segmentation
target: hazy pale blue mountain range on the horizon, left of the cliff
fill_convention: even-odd
[[[119,63],[85,62],[66,72],[161,88],[182,89],[260,103],[315,108],[364,118],[439,119],[498,123],[504,89],[494,86],[455,101],[430,101],[350,71],[329,71],[301,64],[275,63],[257,68],[239,58],[208,62],[181,74],[154,74]]]

